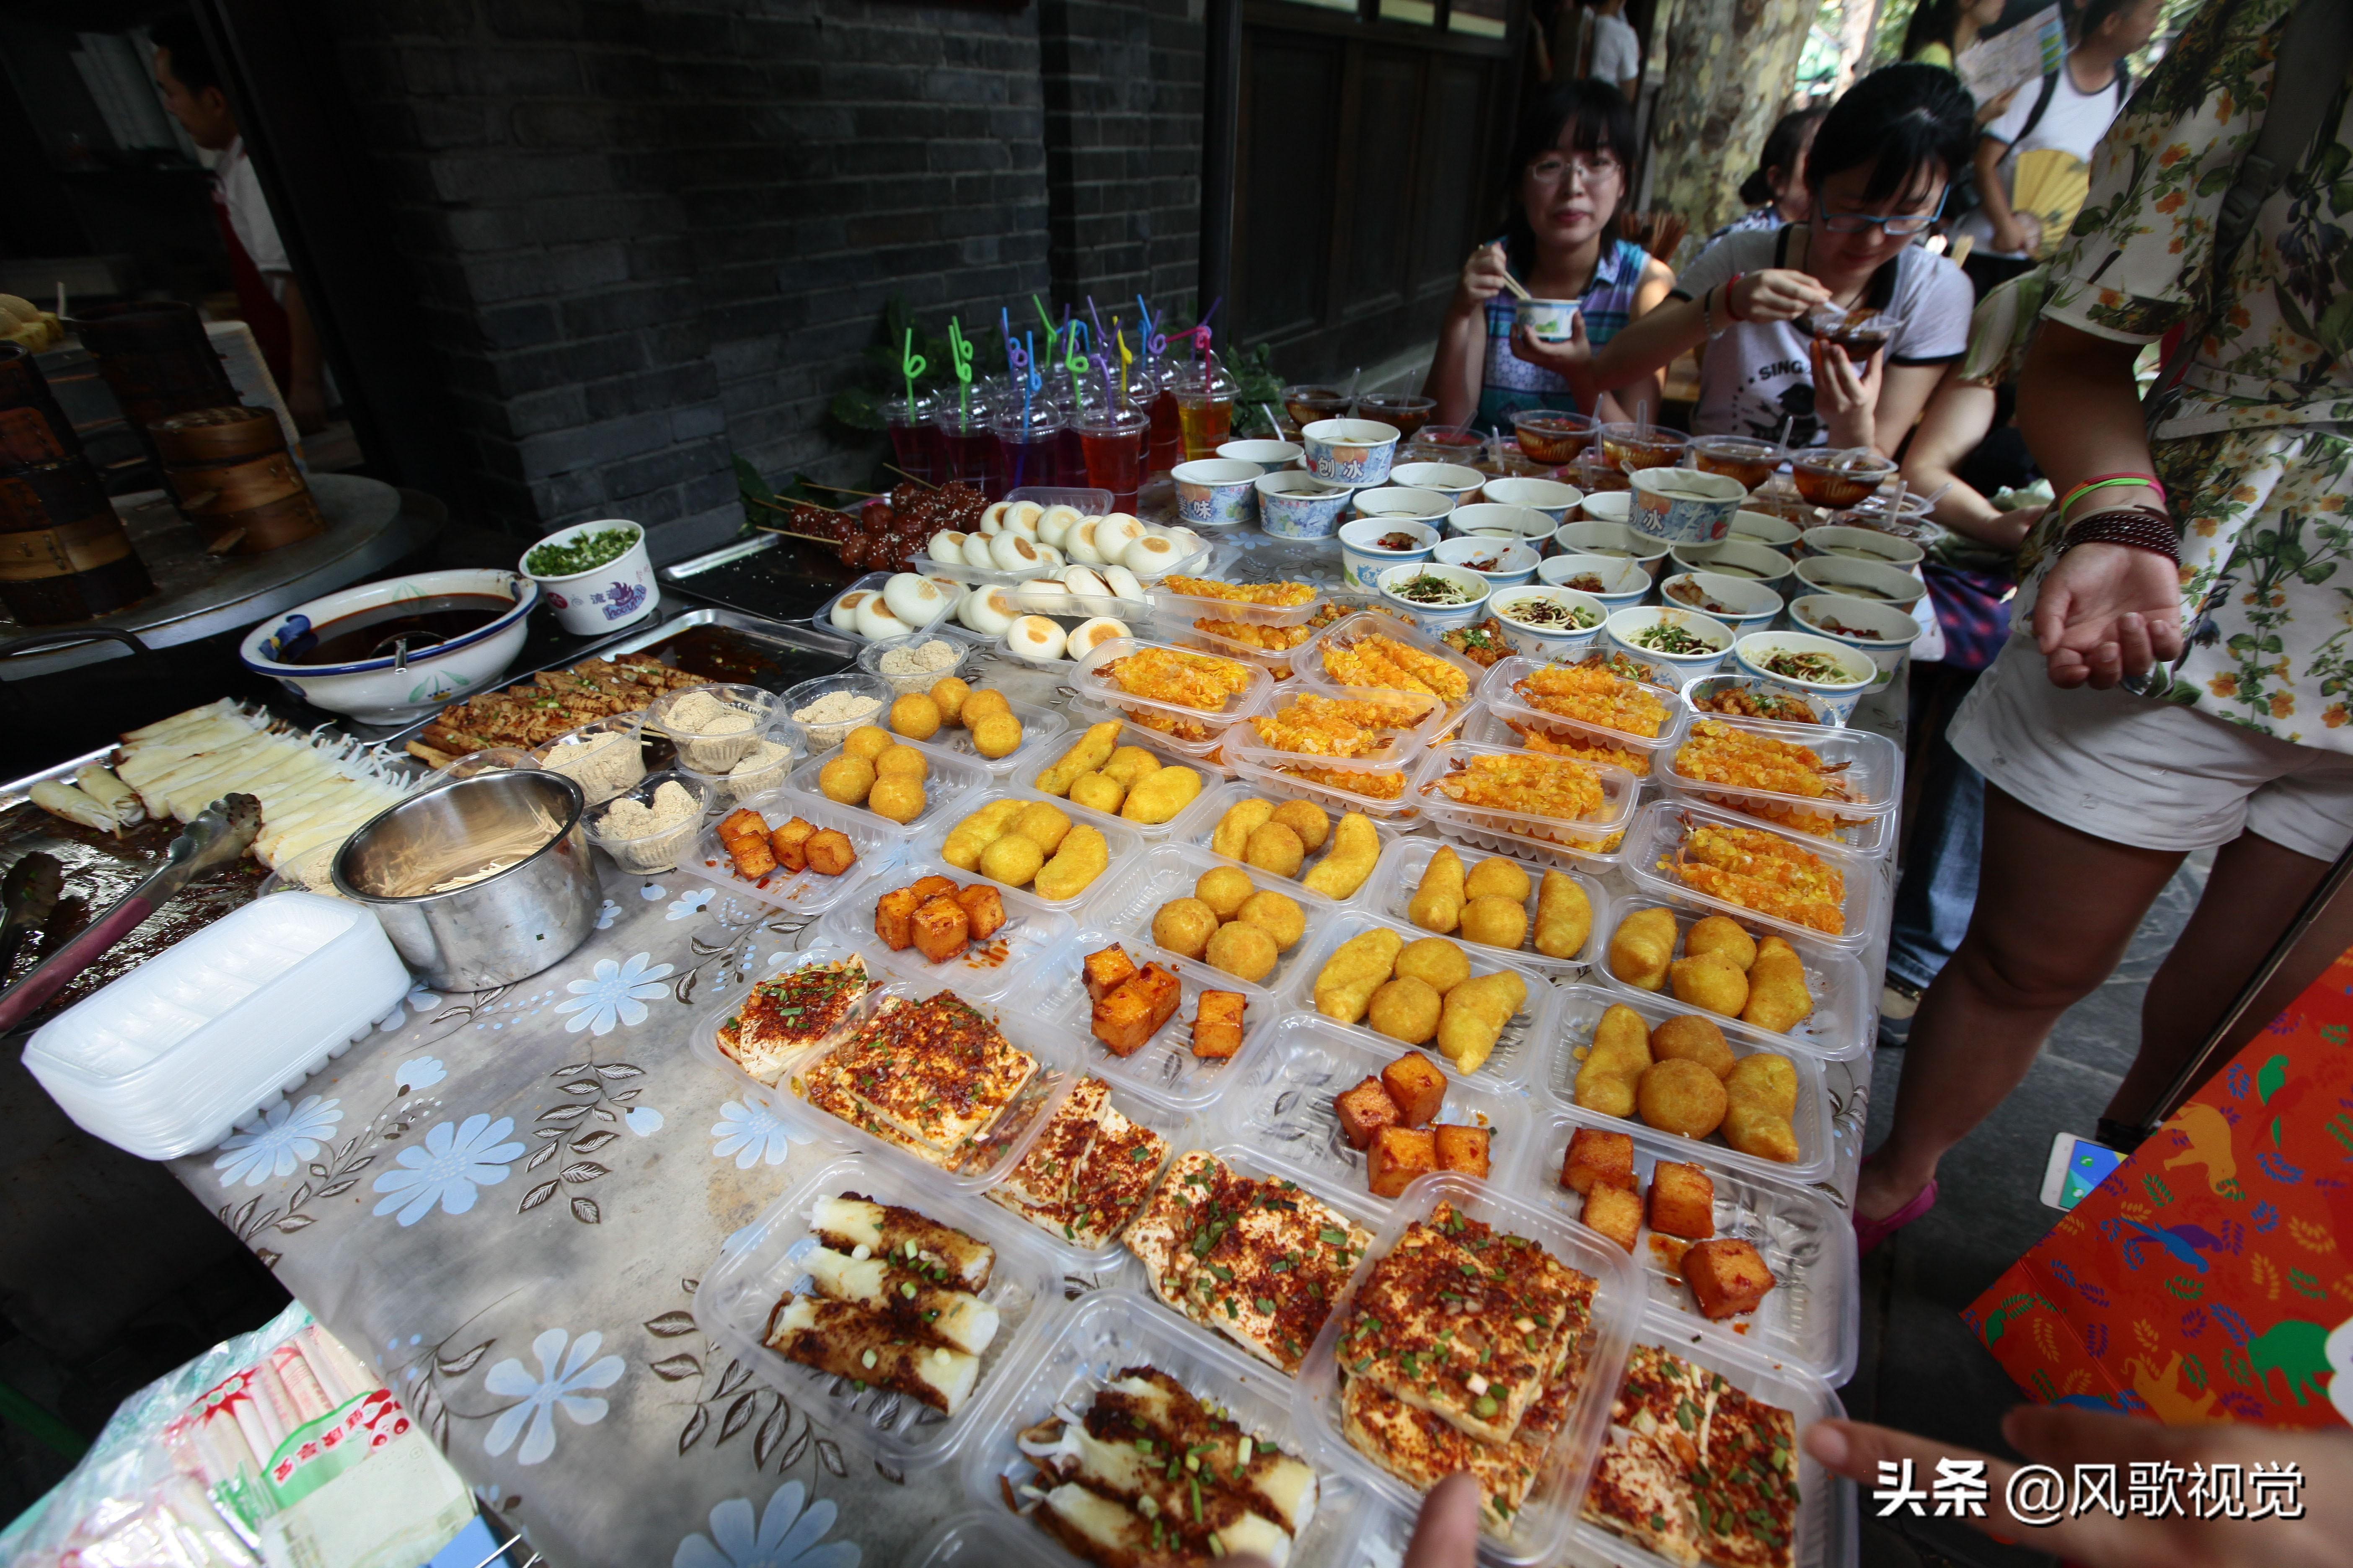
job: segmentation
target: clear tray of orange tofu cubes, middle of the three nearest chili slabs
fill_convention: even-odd
[[[1268,1159],[1318,1178],[1320,1187],[1355,1192],[1367,1204],[1388,1208],[1395,1199],[1365,1185],[1365,1152],[1341,1133],[1334,1098],[1381,1077],[1381,1067],[1417,1048],[1395,1039],[1372,1046],[1358,1030],[1299,1011],[1282,1018],[1273,1039],[1273,1048],[1249,1063],[1240,1091],[1221,1105],[1219,1121]],[[1537,1138],[1537,1107],[1525,1088],[1508,1091],[1457,1074],[1447,1074],[1447,1098],[1435,1121],[1485,1126],[1492,1133],[1487,1180],[1494,1182],[1508,1182],[1527,1164]]]

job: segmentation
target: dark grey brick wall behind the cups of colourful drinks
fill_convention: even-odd
[[[882,303],[1193,287],[1198,0],[351,0],[346,87],[473,508],[729,536],[729,451],[849,477]]]

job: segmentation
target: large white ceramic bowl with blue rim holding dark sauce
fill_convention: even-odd
[[[344,616],[402,599],[438,599],[456,592],[513,599],[513,609],[407,658],[358,658],[341,665],[285,661],[289,644]],[[400,724],[447,703],[461,703],[506,675],[506,665],[515,663],[515,654],[522,651],[534,604],[539,604],[539,583],[513,571],[492,567],[419,571],[329,592],[296,604],[282,616],[271,616],[245,632],[238,644],[238,663],[254,675],[268,675],[313,708],[341,712],[362,724]]]

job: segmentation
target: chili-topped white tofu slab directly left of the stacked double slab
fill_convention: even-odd
[[[1372,1232],[1297,1182],[1238,1175],[1207,1150],[1176,1157],[1127,1229],[1160,1300],[1282,1373],[1299,1371],[1367,1246]]]

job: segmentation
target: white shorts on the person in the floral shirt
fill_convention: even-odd
[[[2191,851],[2254,832],[2315,860],[2353,844],[2353,755],[2127,691],[2064,691],[2024,637],[1979,677],[1948,738],[2014,799],[2113,844]]]

